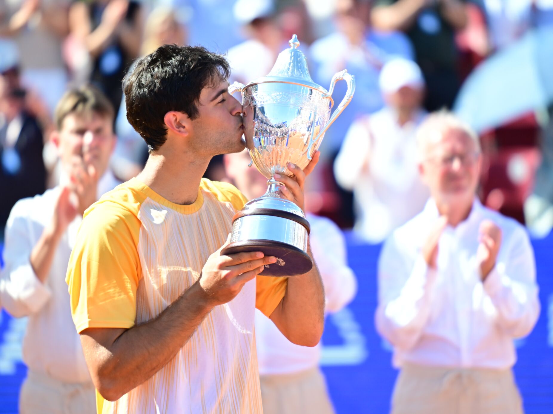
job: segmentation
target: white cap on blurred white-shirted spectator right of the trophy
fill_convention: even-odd
[[[384,64],[380,71],[380,91],[384,94],[398,92],[404,86],[424,88],[424,78],[419,65],[403,57],[395,57]]]

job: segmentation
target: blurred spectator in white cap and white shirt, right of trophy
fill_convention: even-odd
[[[426,115],[420,68],[392,59],[379,84],[385,107],[353,122],[334,164],[338,184],[353,190],[354,230],[371,243],[382,242],[419,213],[429,196],[415,158],[415,131]]]

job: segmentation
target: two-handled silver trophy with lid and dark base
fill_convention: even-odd
[[[353,75],[336,73],[330,89],[312,81],[298,37],[280,52],[269,75],[247,85],[235,82],[229,93],[242,92],[244,137],[255,167],[269,179],[262,197],[249,201],[233,217],[232,235],[223,254],[262,251],[275,256],[263,275],[294,276],[308,272],[313,263],[307,254],[309,222],[294,203],[281,197],[274,174],[293,177],[288,162],[304,169],[319,148],[328,127],[349,104],[355,91]],[[347,92],[332,116],[332,92],[345,80]],[[252,164],[250,163],[250,166]]]

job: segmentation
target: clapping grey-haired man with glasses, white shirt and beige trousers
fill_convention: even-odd
[[[513,339],[540,311],[529,238],[478,201],[471,129],[432,114],[418,151],[431,198],[387,240],[378,269],[377,330],[401,369],[392,413],[520,414]]]

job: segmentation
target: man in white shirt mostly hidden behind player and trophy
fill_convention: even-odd
[[[267,178],[248,168],[249,153],[224,157],[227,176],[249,200],[267,190]],[[325,287],[325,310],[337,312],[351,302],[357,280],[347,265],[346,243],[331,220],[307,214],[310,243]],[[319,368],[321,344],[302,347],[288,341],[262,312],[255,311],[255,342],[264,414],[332,414],[324,375]]]

